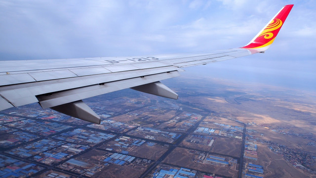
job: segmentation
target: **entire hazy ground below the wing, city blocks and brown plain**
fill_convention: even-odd
[[[164,83],[178,100],[131,89],[86,99],[100,125],[37,103],[0,112],[0,177],[316,178],[315,93]]]

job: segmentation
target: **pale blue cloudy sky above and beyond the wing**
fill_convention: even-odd
[[[286,4],[294,7],[264,54],[182,75],[316,91],[316,0],[0,0],[0,60],[235,48]]]

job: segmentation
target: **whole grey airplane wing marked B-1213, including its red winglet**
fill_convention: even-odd
[[[180,76],[184,67],[264,52],[292,7],[282,7],[249,44],[239,48],[200,54],[0,61],[0,111],[39,102],[44,109],[100,124],[100,117],[82,99],[127,88],[177,99],[159,81]]]

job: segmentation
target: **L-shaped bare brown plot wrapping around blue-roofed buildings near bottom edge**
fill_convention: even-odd
[[[231,170],[221,166],[197,163],[192,161],[193,157],[194,153],[190,153],[190,149],[177,147],[163,160],[163,162],[211,174],[237,178],[238,171],[236,170]]]

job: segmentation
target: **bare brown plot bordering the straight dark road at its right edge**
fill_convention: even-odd
[[[228,137],[217,137],[211,152],[240,157],[241,140]]]

